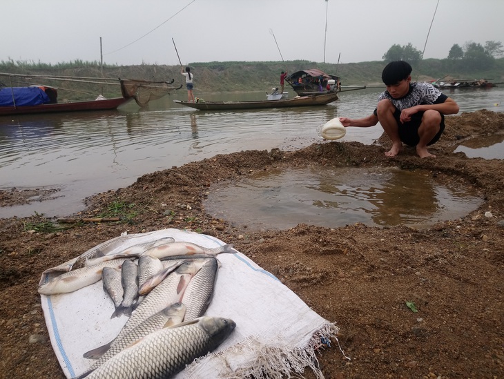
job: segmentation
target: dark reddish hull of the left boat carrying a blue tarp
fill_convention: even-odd
[[[75,101],[58,104],[41,104],[37,106],[0,106],[0,116],[31,115],[34,113],[77,112],[88,110],[110,110],[132,100],[133,97],[116,97],[113,99]]]

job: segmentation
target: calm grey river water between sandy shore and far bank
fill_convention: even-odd
[[[320,107],[202,112],[173,103],[180,90],[114,111],[0,117],[0,188],[59,188],[54,200],[0,208],[0,217],[35,212],[64,216],[96,193],[128,186],[146,173],[241,150],[292,150],[320,142],[318,128],[334,117],[364,117],[383,88],[340,94]],[[265,99],[265,93],[195,95],[210,100]],[[461,112],[504,111],[504,88],[447,93]],[[349,128],[342,141],[371,144],[380,126]],[[502,144],[502,142],[501,142]],[[502,151],[502,149],[500,149]]]

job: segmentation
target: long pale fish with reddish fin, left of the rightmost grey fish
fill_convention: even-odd
[[[126,324],[124,324],[124,327],[119,331],[116,338],[124,338],[126,334],[130,333],[131,330],[151,317],[151,315],[168,307],[170,304],[181,302],[186,286],[205,262],[205,260],[180,260],[175,271],[148,293],[133,313],[131,313],[130,318],[126,321]],[[102,348],[97,347],[86,351],[83,357],[97,359],[104,353],[104,349]]]

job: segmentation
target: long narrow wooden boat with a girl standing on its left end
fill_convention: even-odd
[[[260,108],[287,108],[297,106],[322,106],[338,100],[338,94],[327,93],[316,96],[298,96],[293,99],[257,100],[257,101],[198,101],[188,102],[173,100],[176,104],[198,110],[235,110]]]

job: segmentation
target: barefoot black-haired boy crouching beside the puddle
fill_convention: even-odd
[[[374,113],[361,119],[340,117],[343,126],[367,128],[380,122],[392,147],[385,155],[395,157],[403,143],[416,146],[420,158],[436,157],[427,146],[438,141],[445,130],[445,115],[458,113],[458,104],[428,83],[411,83],[411,66],[392,61],[382,71],[387,90],[378,97]]]

